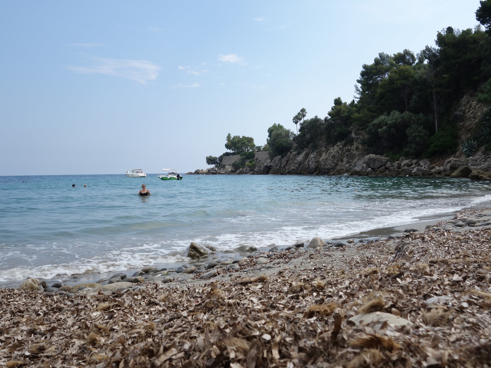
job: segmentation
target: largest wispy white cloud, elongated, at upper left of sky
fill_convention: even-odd
[[[90,67],[70,66],[68,69],[82,74],[101,73],[108,76],[133,79],[141,84],[146,84],[148,80],[156,79],[161,69],[158,65],[146,60],[107,59],[102,57],[94,57],[93,60],[95,64]]]

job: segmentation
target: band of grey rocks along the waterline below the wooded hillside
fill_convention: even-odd
[[[355,176],[449,176],[474,180],[491,180],[491,156],[478,154],[470,158],[425,158],[422,160],[401,157],[397,161],[380,155],[346,155],[334,150],[330,154],[319,151],[297,153],[292,151],[284,158],[277,156],[265,164],[235,170],[232,166],[197,169],[188,175],[217,174],[313,174]],[[320,156],[320,157],[319,157]],[[324,157],[326,156],[326,157]]]

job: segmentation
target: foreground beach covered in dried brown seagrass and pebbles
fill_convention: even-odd
[[[0,366],[487,367],[491,211],[406,230],[230,264],[208,249],[202,272],[146,267],[137,283],[0,289]]]

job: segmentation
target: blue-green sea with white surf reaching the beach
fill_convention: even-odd
[[[490,183],[468,179],[157,175],[0,176],[0,287],[182,264],[191,241],[263,249],[491,207]]]

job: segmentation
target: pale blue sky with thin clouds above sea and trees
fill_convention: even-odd
[[[351,101],[361,66],[479,0],[1,1],[0,175],[210,167],[225,137]]]

